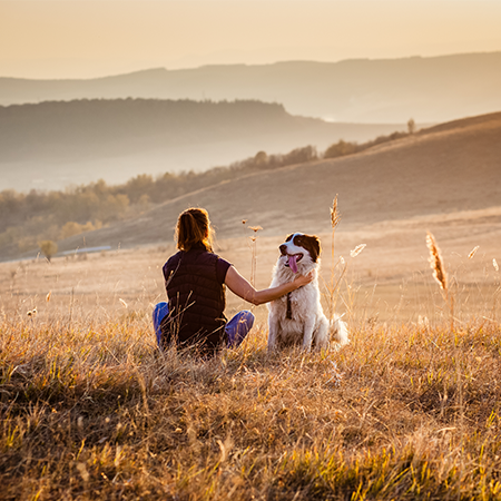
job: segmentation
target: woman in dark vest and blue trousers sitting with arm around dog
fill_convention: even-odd
[[[157,304],[153,314],[160,348],[175,342],[213,354],[223,346],[238,346],[250,331],[254,315],[243,311],[226,322],[225,285],[259,305],[313,279],[313,274],[297,275],[288,284],[256,291],[230,263],[213,253],[213,233],[207,210],[189,208],[180,214],[176,226],[179,252],[164,265],[168,303]]]

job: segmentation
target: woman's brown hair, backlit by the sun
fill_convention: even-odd
[[[177,248],[188,252],[202,244],[213,252],[214,229],[208,213],[204,208],[191,207],[179,215],[176,226]]]

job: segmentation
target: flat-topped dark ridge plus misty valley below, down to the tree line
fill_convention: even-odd
[[[206,170],[340,138],[367,140],[404,125],[328,124],[259,101],[114,99],[0,107],[0,190],[61,189],[99,178]]]

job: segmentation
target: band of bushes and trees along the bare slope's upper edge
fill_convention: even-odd
[[[323,155],[318,155],[314,146],[296,148],[283,155],[258,151],[253,157],[204,173],[165,173],[157,177],[140,174],[121,185],[110,186],[100,179],[65,190],[33,189],[28,194],[3,190],[0,191],[0,253],[4,256],[19,255],[37,248],[40,242],[58,242],[98,229],[189,191],[246,174],[352,155],[413,131],[409,126],[407,132],[381,136],[364,144],[340,140]]]

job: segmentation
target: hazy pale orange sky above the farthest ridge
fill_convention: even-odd
[[[0,76],[501,50],[501,0],[0,0]]]

